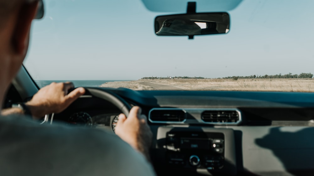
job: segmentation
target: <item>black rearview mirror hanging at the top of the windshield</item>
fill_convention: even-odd
[[[155,18],[156,35],[178,36],[226,34],[229,32],[228,13],[184,13],[157,16]]]

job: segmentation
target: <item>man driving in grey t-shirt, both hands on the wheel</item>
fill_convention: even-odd
[[[27,53],[39,0],[0,0],[0,107]],[[58,113],[85,93],[72,83],[52,83],[24,104],[37,119]],[[39,125],[21,108],[0,117],[1,175],[154,175],[152,133],[141,109],[120,114],[116,135],[96,129]]]

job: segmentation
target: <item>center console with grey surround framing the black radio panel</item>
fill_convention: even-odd
[[[159,127],[156,145],[155,164],[169,171],[236,175],[232,129]]]

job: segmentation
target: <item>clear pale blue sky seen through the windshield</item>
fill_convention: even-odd
[[[152,12],[141,0],[44,3],[24,61],[35,80],[314,73],[312,0],[243,0],[233,10],[219,9],[230,14],[228,34],[193,40],[154,34],[156,16],[184,9]],[[212,11],[206,7],[197,12]]]

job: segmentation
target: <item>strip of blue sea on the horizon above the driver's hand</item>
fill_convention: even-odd
[[[75,87],[99,87],[106,82],[131,81],[131,80],[35,80],[35,83],[41,88],[52,82],[73,82]]]

